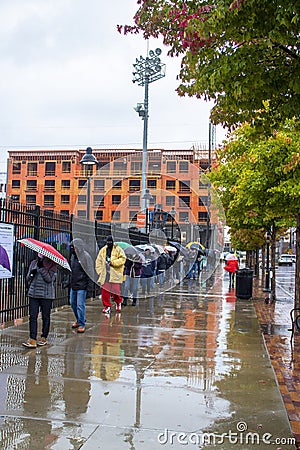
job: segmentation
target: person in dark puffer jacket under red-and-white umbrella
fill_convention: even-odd
[[[26,277],[29,285],[29,339],[22,343],[24,347],[36,348],[47,344],[56,276],[56,263],[38,253],[37,259],[31,262]],[[42,313],[42,333],[37,341],[39,311]]]

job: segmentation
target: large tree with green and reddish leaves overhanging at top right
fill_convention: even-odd
[[[229,128],[271,126],[299,116],[298,0],[139,0],[134,26],[163,37],[182,57],[178,94],[213,100],[211,119]],[[265,107],[267,106],[267,110]]]

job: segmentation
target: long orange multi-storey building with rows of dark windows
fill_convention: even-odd
[[[136,149],[93,150],[95,166],[80,164],[85,150],[10,150],[7,196],[23,204],[37,204],[61,214],[74,214],[99,222],[133,226],[141,209],[142,152]],[[212,154],[212,158],[214,155]],[[148,150],[149,211],[175,209],[177,224],[204,229],[208,222],[209,185],[205,150]],[[87,179],[89,186],[87,187]],[[89,199],[87,193],[89,191]],[[158,208],[157,208],[158,206]],[[162,217],[160,217],[162,220]],[[210,223],[217,223],[212,209]]]

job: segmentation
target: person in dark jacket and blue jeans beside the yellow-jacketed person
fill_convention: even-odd
[[[85,332],[86,322],[86,298],[93,289],[94,263],[90,254],[84,249],[84,242],[75,238],[71,242],[71,280],[70,280],[70,304],[76,321],[72,328],[77,333]]]

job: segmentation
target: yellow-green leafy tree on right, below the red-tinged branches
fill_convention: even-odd
[[[299,124],[288,121],[273,136],[265,138],[250,125],[243,125],[220,151],[219,164],[210,178],[219,188],[228,224],[234,229],[272,228],[275,245],[276,228],[297,223],[295,304],[299,307]],[[275,259],[272,265],[275,266]]]

